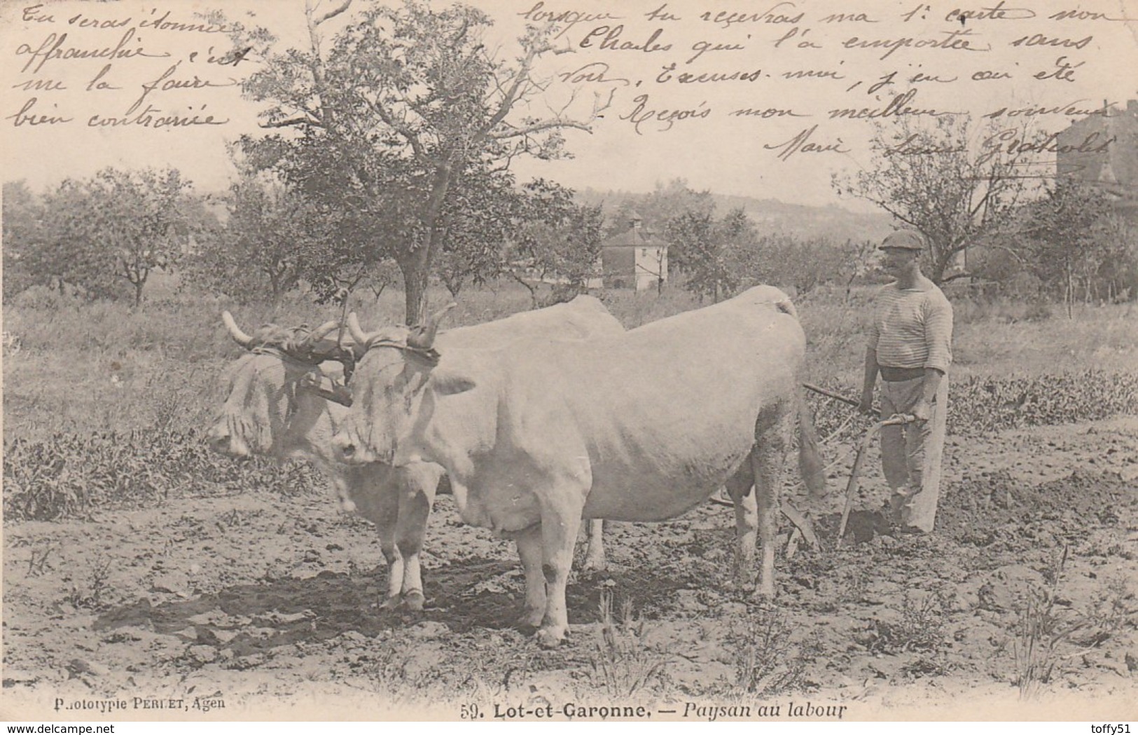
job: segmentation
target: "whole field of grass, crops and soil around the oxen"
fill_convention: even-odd
[[[601,296],[629,328],[696,306],[675,290]],[[809,380],[856,391],[866,299],[798,300]],[[465,324],[525,308],[528,296],[503,287],[459,303],[453,323]],[[384,294],[354,307],[368,327],[394,321],[401,304]],[[1067,320],[1061,308],[957,300],[935,534],[882,535],[887,489],[871,456],[836,545],[866,424],[811,398],[831,463],[823,548],[780,553],[773,604],[729,588],[732,511],[708,503],[667,523],[610,525],[609,568],[570,584],[570,637],[553,651],[513,627],[522,579],[512,546],[461,525],[448,496],[428,530],[427,609],[380,611],[374,528],[341,512],[314,470],[205,448],[220,377],[240,354],[222,308],[244,325],[337,315],[173,292],[139,312],[51,294],[6,306],[0,715],[1138,713],[1133,306]],[[797,473],[785,487],[797,496]],[[789,525],[781,530],[785,548]]]

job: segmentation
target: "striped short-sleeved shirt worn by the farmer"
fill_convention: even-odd
[[[927,291],[885,286],[874,299],[869,347],[885,368],[935,368],[953,362],[953,305],[933,286]]]

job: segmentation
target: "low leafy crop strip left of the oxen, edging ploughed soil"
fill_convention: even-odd
[[[3,486],[7,519],[55,520],[218,490],[306,492],[320,480],[306,464],[233,462],[196,432],[167,429],[13,440],[5,447]]]

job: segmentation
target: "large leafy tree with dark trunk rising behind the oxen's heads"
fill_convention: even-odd
[[[563,110],[520,114],[543,90],[533,72],[553,50],[549,30],[531,27],[519,39],[518,59],[506,61],[484,41],[490,19],[483,11],[406,0],[398,9],[365,5],[329,39],[322,26],[351,5],[318,13],[307,3],[303,50],[282,50],[263,30],[233,25],[236,42],[265,59],[244,93],[270,105],[265,126],[292,131],[246,137],[241,147],[258,167],[343,214],[330,236],[345,255],[361,264],[393,258],[404,276],[406,317],[415,321],[438,254],[452,240],[462,251],[477,241],[470,234],[462,242],[462,229],[487,223],[467,201],[504,191],[518,156],[560,156],[561,131],[588,130],[607,102],[599,98],[580,121]],[[476,184],[487,180],[494,185]]]

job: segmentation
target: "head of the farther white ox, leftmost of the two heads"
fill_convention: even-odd
[[[347,355],[349,364],[348,349],[324,339],[339,324],[327,322],[314,330],[264,324],[250,336],[229,312],[222,313],[222,321],[248,354],[229,370],[225,403],[206,439],[215,451],[231,456],[281,456],[295,439],[290,424],[300,391],[320,393],[321,362]]]

